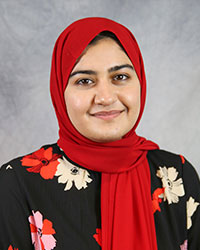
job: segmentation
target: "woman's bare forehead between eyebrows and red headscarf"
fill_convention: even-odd
[[[74,68],[82,67],[99,67],[107,66],[111,64],[129,63],[131,60],[124,52],[124,50],[111,38],[103,38],[98,42],[88,45],[83,53],[76,60]]]

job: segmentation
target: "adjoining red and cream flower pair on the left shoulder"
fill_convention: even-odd
[[[53,179],[58,176],[58,183],[66,183],[65,189],[71,189],[73,182],[75,187],[80,190],[86,188],[87,183],[92,179],[87,170],[71,164],[69,161],[61,158],[61,155],[53,154],[53,149],[41,148],[36,152],[24,156],[21,160],[22,166],[29,167],[27,171],[40,173],[44,179]]]

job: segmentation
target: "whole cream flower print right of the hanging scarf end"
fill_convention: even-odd
[[[176,169],[174,167],[159,167],[156,175],[162,179],[163,188],[165,189],[164,201],[167,200],[168,204],[178,203],[179,197],[183,196],[185,191],[182,178],[176,180],[178,176]]]

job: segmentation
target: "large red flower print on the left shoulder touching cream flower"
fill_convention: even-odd
[[[22,158],[22,166],[29,167],[27,171],[40,173],[44,179],[52,179],[57,170],[59,162],[57,159],[60,157],[58,154],[53,154],[53,149],[41,148],[36,152],[26,155]]]

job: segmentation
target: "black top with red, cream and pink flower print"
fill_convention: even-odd
[[[200,249],[200,182],[181,155],[147,154],[158,250]],[[101,173],[57,144],[0,169],[1,250],[101,249]],[[122,249],[124,250],[124,249]]]

